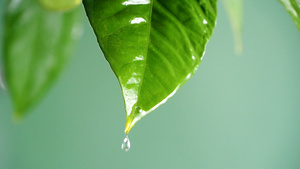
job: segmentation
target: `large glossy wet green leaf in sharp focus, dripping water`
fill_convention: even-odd
[[[126,128],[163,104],[196,71],[216,22],[216,0],[85,0],[117,76]]]

